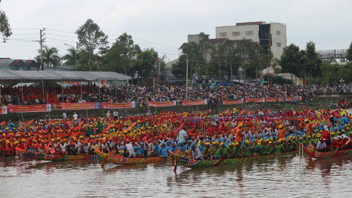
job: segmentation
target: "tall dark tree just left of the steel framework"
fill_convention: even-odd
[[[307,58],[306,69],[308,73],[308,79],[310,76],[310,80],[313,83],[313,76],[321,76],[320,67],[322,59],[319,57],[319,53],[315,51],[315,43],[313,41],[307,42],[305,52],[305,57]]]

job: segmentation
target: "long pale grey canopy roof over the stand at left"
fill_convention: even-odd
[[[38,80],[129,80],[130,76],[116,72],[67,72],[67,71],[21,71],[0,70],[2,80],[38,79]]]

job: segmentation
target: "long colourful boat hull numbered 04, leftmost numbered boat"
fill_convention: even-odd
[[[25,151],[20,148],[16,148],[18,151],[23,152],[23,156],[29,157],[33,160],[44,160],[44,161],[66,161],[66,160],[94,160],[101,159],[99,155],[52,155],[40,152]]]

